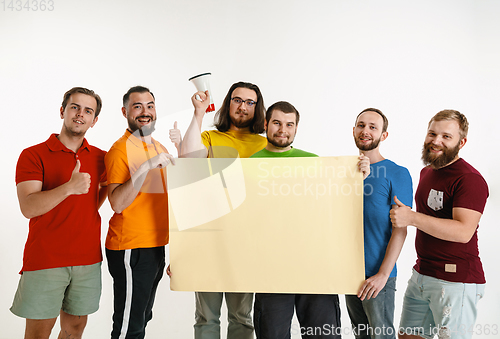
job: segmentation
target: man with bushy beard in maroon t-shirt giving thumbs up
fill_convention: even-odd
[[[399,338],[472,338],[484,293],[477,228],[488,198],[481,174],[458,156],[468,122],[444,110],[429,122],[422,150],[426,167],[415,194],[417,212],[391,210],[394,227],[417,228],[417,263],[403,302]]]

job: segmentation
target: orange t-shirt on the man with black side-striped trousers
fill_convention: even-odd
[[[123,184],[139,166],[159,153],[166,152],[156,140],[142,142],[128,130],[104,158],[109,184]],[[168,199],[166,169],[150,170],[139,194],[122,213],[109,220],[106,248],[126,250],[168,244]]]

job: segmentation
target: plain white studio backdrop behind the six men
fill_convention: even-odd
[[[240,80],[259,85],[266,107],[278,100],[293,103],[301,112],[294,145],[322,156],[356,154],[355,116],[366,107],[381,109],[389,118],[382,154],[410,170],[414,188],[428,120],[445,108],[464,113],[470,133],[461,156],[490,188],[479,229],[487,290],[477,325],[483,330],[497,326],[496,336],[475,337],[500,337],[495,251],[500,183],[493,147],[500,107],[500,2],[54,0],[53,7],[45,3],[45,11],[40,3],[38,11],[17,11],[16,2],[12,10],[10,2],[0,3],[5,127],[0,133],[0,338],[20,338],[24,332],[24,320],[8,310],[28,230],[16,198],[16,161],[24,148],[60,131],[64,92],[83,86],[102,97],[99,122],[87,139],[107,150],[126,128],[120,111],[123,94],[134,85],[150,87],[159,115],[155,137],[175,154],[168,129],[175,120],[183,132],[187,128],[194,93],[187,79],[202,72],[213,74],[217,107],[229,86]],[[213,114],[206,117],[206,127],[212,119]],[[101,216],[104,239],[111,217],[107,202]],[[414,234],[410,229],[399,260],[396,325],[416,258]],[[332,239],[332,246],[338,241]],[[300,244],[295,246],[300,250]],[[297,267],[297,274],[307,274],[307,268]],[[109,337],[111,291],[104,262],[101,308],[89,317],[86,338]],[[147,337],[190,338],[193,322],[193,293],[171,292],[164,278]]]

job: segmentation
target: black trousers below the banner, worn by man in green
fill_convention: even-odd
[[[300,328],[291,328],[293,312]],[[341,338],[340,305],[336,294],[256,293],[254,327],[257,339]]]

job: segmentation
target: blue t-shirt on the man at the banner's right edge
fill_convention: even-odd
[[[365,274],[378,273],[392,234],[389,212],[396,195],[403,204],[412,207],[413,187],[410,172],[405,167],[384,159],[370,165],[370,175],[364,181],[363,223],[365,238]],[[390,277],[397,275],[396,265]]]

